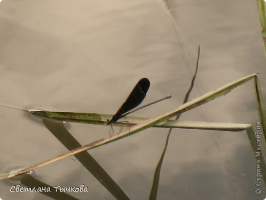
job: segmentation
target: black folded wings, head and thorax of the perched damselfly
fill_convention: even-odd
[[[107,124],[116,123],[118,119],[129,114],[128,112],[137,106],[139,106],[144,98],[146,97],[147,91],[150,87],[150,81],[148,78],[141,78],[137,85],[128,95],[126,101],[118,109],[117,113],[112,117],[112,119],[107,120]]]

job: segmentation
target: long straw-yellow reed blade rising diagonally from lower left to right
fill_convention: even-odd
[[[33,170],[33,169],[48,165],[50,163],[56,162],[56,161],[58,161],[60,159],[63,159],[65,157],[68,157],[68,156],[71,156],[71,155],[75,155],[75,154],[80,153],[82,151],[93,149],[93,148],[102,146],[104,144],[110,143],[110,142],[114,142],[114,141],[116,141],[118,139],[121,139],[123,137],[132,135],[132,134],[137,133],[137,132],[139,132],[141,130],[144,130],[144,129],[147,129],[149,127],[152,127],[152,126],[155,126],[157,124],[160,124],[162,122],[165,122],[168,119],[172,118],[173,116],[176,116],[176,115],[178,115],[180,113],[183,113],[185,111],[188,111],[188,110],[191,110],[191,109],[196,108],[198,106],[201,106],[201,105],[203,105],[203,104],[205,104],[207,102],[212,101],[215,98],[218,98],[219,96],[227,94],[231,90],[233,90],[233,89],[239,87],[240,85],[248,82],[250,79],[252,79],[252,78],[254,78],[256,76],[257,76],[257,74],[252,74],[252,75],[240,78],[240,79],[238,79],[235,82],[227,84],[226,86],[221,87],[221,88],[219,88],[219,89],[217,89],[215,91],[212,91],[212,92],[209,92],[207,94],[204,94],[201,97],[195,98],[191,102],[183,104],[183,105],[181,105],[181,106],[179,106],[179,107],[177,107],[177,108],[175,108],[175,109],[173,109],[173,110],[171,110],[171,111],[169,111],[167,113],[164,113],[164,114],[161,114],[159,116],[152,117],[152,118],[149,118],[149,119],[147,119],[145,121],[142,121],[141,123],[132,126],[130,128],[130,130],[125,130],[125,131],[123,131],[121,133],[114,134],[112,137],[105,137],[105,138],[99,139],[98,141],[95,141],[93,143],[87,144],[85,146],[82,146],[80,148],[74,149],[72,151],[69,151],[67,153],[61,154],[59,156],[53,157],[51,159],[48,159],[47,161],[43,161],[43,162],[40,162],[38,164],[32,165],[32,166],[30,166],[28,168],[25,168],[23,170],[12,172],[12,173],[9,173],[9,174],[7,174],[7,173],[2,174],[3,176],[0,177],[0,179],[10,178],[10,177],[13,177],[13,176],[16,176],[16,175],[19,175],[19,174],[26,173],[26,172],[28,172],[30,170]]]

